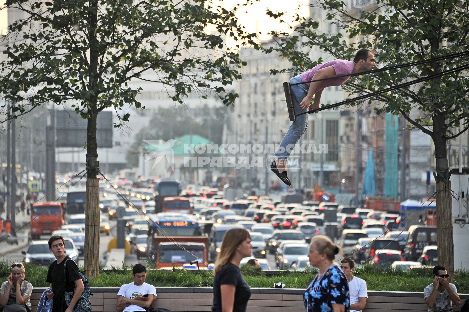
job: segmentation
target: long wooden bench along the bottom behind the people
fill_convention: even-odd
[[[45,288],[35,288],[31,295],[32,311],[36,312],[39,298]],[[93,312],[116,311],[119,288],[91,288]],[[304,312],[303,289],[252,288],[252,296],[247,312]],[[153,306],[173,312],[210,312],[212,308],[212,288],[157,287],[158,297]],[[461,300],[469,298],[460,294]],[[459,311],[454,305],[454,312]],[[369,291],[364,312],[411,312],[427,311],[423,292]]]

